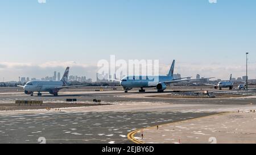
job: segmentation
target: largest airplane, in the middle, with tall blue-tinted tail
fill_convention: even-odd
[[[175,82],[183,81],[195,81],[198,79],[189,79],[191,77],[185,78],[174,78],[174,66],[175,60],[172,62],[170,71],[167,76],[127,76],[119,79],[110,79],[113,81],[119,81],[120,85],[125,90],[125,93],[128,93],[128,90],[131,90],[135,87],[140,87],[139,92],[145,92],[144,87],[156,87],[159,93],[163,93],[166,90],[167,85]],[[209,79],[209,78],[207,78]]]

